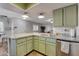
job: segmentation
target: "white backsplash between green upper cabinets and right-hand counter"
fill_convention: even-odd
[[[74,36],[74,29],[72,28],[53,28],[54,35],[60,36]]]

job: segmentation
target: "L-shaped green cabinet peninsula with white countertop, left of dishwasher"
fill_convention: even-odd
[[[47,33],[21,33],[9,39],[9,55],[24,56],[32,51],[43,55],[56,55],[56,39]]]

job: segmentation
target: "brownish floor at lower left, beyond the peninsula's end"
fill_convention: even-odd
[[[7,42],[3,44],[0,42],[0,56],[7,56],[8,55],[8,47]]]

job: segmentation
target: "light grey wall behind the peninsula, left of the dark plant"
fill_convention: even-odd
[[[33,24],[38,25],[38,32],[40,32],[40,26],[41,24],[39,23],[34,23],[22,19],[12,19],[12,22],[14,23],[14,33],[32,33],[33,32]]]

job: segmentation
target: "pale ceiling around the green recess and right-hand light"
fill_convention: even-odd
[[[16,12],[17,14],[20,15],[22,15],[25,11],[27,11],[28,15],[30,16],[28,21],[42,23],[42,24],[50,24],[50,22],[47,22],[46,20],[53,18],[53,10],[69,5],[72,5],[72,3],[40,3],[40,4],[33,4],[31,5],[31,7],[23,9],[24,7],[23,8],[17,7],[16,4],[2,3],[0,4],[0,7]],[[44,19],[37,18],[37,16],[41,12],[44,13],[45,16]]]

